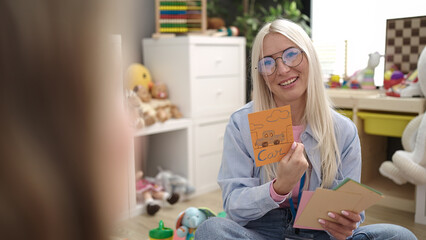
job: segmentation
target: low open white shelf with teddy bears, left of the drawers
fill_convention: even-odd
[[[157,122],[135,132],[135,142],[139,142],[140,138],[145,139],[135,146],[136,148],[142,147],[144,152],[132,156],[133,171],[131,173],[133,175],[131,179],[133,181],[130,184],[130,216],[145,212],[143,204],[138,204],[136,201],[135,161],[146,160],[142,163],[145,176],[154,177],[158,173],[158,167],[161,166],[173,170],[174,173],[185,176],[189,182],[193,182],[192,125],[193,121],[188,118],[169,119],[164,123]]]

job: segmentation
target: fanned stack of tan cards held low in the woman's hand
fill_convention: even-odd
[[[297,209],[294,228],[323,230],[318,219],[335,222],[328,212],[340,213],[349,210],[360,213],[376,204],[384,196],[377,190],[346,178],[335,189],[317,188],[315,191],[303,191]]]

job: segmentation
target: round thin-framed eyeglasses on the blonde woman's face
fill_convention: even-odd
[[[257,64],[259,73],[266,74],[268,76],[273,74],[277,69],[276,60],[278,58],[281,58],[283,63],[289,67],[297,67],[303,60],[303,51],[299,48],[291,47],[284,50],[281,57],[277,57],[275,59],[272,57],[264,57],[260,59]]]

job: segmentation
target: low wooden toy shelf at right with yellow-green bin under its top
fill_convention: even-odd
[[[352,121],[358,128],[361,141],[362,183],[371,186],[385,195],[378,205],[415,213],[415,221],[426,224],[426,185],[415,186],[411,183],[397,185],[392,180],[379,173],[379,167],[387,159],[388,136],[394,134],[369,131],[369,121],[365,116],[379,117],[374,124],[387,125],[388,128],[404,129],[407,118],[422,114],[426,109],[424,98],[394,98],[387,97],[379,90],[348,90],[327,89],[327,94],[337,109],[352,116]],[[397,123],[392,123],[399,120]],[[404,122],[402,122],[404,121]],[[404,126],[401,126],[404,125]],[[370,132],[371,134],[369,134]]]

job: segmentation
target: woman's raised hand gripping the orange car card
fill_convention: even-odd
[[[276,193],[280,195],[289,193],[308,169],[309,163],[303,154],[304,149],[303,143],[293,142],[290,151],[278,162],[276,180],[273,184]]]

